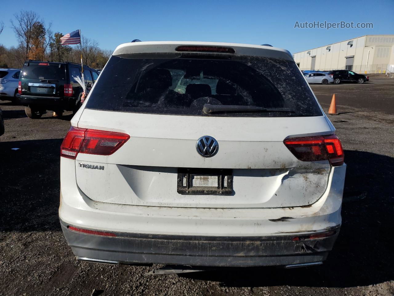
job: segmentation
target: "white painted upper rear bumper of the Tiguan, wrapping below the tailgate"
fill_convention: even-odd
[[[310,206],[225,209],[95,202],[78,188],[75,168],[75,161],[61,157],[59,217],[80,227],[151,234],[265,236],[312,233],[341,223],[346,165],[331,169],[327,190]],[[282,217],[290,219],[270,221]]]

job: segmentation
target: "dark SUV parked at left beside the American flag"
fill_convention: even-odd
[[[83,90],[73,77],[81,77],[81,71],[80,64],[71,62],[25,62],[20,73],[18,92],[26,115],[40,118],[46,110],[58,113],[64,110],[78,111]],[[84,66],[84,77],[89,87],[99,74],[95,69]]]

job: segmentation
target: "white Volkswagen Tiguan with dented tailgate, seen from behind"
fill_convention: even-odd
[[[119,45],[61,145],[79,260],[309,266],[338,236],[346,165],[290,52]]]

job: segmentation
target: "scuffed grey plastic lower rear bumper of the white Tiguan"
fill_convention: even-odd
[[[179,236],[112,232],[116,237],[61,228],[77,257],[112,263],[161,263],[192,266],[280,266],[321,262],[331,251],[339,228],[323,238],[291,236]],[[298,239],[298,240],[297,240]]]

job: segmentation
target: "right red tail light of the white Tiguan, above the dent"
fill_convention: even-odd
[[[329,159],[332,166],[344,163],[342,144],[336,135],[290,138],[283,142],[299,160],[316,161]]]

